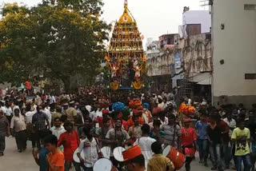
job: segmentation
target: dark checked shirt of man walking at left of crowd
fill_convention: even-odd
[[[34,113],[32,117],[32,124],[35,130],[46,129],[46,113]]]

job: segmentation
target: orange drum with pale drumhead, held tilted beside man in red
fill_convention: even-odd
[[[186,156],[170,145],[166,146],[162,151],[162,155],[168,157],[174,163],[175,169],[181,169],[186,161]]]

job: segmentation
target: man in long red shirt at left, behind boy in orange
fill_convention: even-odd
[[[76,171],[81,171],[80,165],[73,160],[73,154],[80,145],[80,139],[78,133],[73,130],[73,124],[71,121],[64,123],[66,133],[62,133],[58,139],[58,147],[63,145],[64,157],[65,157],[65,170],[70,170],[71,163],[73,163]]]

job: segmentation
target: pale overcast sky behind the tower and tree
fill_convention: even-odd
[[[190,6],[190,10],[204,10],[202,0],[128,0],[130,12],[138,23],[138,29],[145,38],[154,38],[162,34],[178,33],[178,26],[182,24],[183,6]],[[27,6],[35,6],[41,0],[0,0],[5,2],[22,2]],[[105,3],[102,18],[106,22],[117,20],[123,11],[124,0],[103,0]]]

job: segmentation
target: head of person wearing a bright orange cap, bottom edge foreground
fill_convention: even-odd
[[[146,171],[145,159],[138,145],[122,152],[122,156],[128,171]]]

